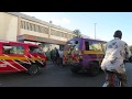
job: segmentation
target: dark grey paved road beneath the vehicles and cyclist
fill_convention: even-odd
[[[127,64],[128,85],[132,87],[132,64]],[[0,87],[101,87],[105,74],[97,77],[75,75],[68,67],[56,67],[48,63],[35,76],[25,73],[0,74]]]

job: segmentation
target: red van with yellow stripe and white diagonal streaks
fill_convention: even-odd
[[[0,41],[0,73],[28,72],[46,67],[46,55],[34,44]]]

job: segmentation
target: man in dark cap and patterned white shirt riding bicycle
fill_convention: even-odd
[[[106,45],[106,55],[101,63],[101,69],[106,73],[108,87],[114,87],[113,80],[116,76],[121,81],[121,87],[127,87],[127,73],[123,61],[131,56],[131,52],[128,44],[121,40],[121,31],[116,31],[113,37]]]

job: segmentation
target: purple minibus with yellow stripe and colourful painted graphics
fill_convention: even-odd
[[[74,37],[66,42],[63,65],[68,65],[73,73],[88,73],[97,76],[106,52],[106,41]]]

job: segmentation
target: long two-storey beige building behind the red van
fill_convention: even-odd
[[[0,12],[0,40],[41,43],[43,47],[59,47],[76,36],[73,31],[20,12]],[[59,46],[58,46],[59,45]]]

